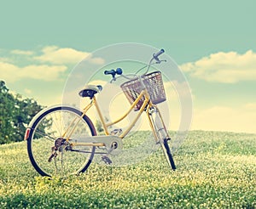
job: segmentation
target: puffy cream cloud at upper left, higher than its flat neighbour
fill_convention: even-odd
[[[34,59],[54,65],[75,65],[85,58],[89,58],[94,64],[104,63],[104,59],[92,58],[90,53],[81,52],[73,48],[58,48],[56,46],[48,46],[43,48],[42,52],[42,55],[36,56]]]

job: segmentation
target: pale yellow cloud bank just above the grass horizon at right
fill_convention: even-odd
[[[256,133],[256,104],[244,104],[240,108],[212,106],[195,110],[192,129]]]

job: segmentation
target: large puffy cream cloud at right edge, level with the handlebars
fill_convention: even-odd
[[[245,54],[219,52],[180,67],[207,82],[256,81],[256,54],[252,50]]]

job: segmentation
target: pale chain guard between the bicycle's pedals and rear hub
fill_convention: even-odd
[[[75,146],[88,146],[102,144],[104,149],[110,155],[118,155],[119,150],[123,149],[123,141],[118,136],[93,136],[93,137],[79,137],[76,139],[70,139],[70,143]],[[99,146],[102,148],[102,146]],[[104,153],[106,154],[106,153]]]

